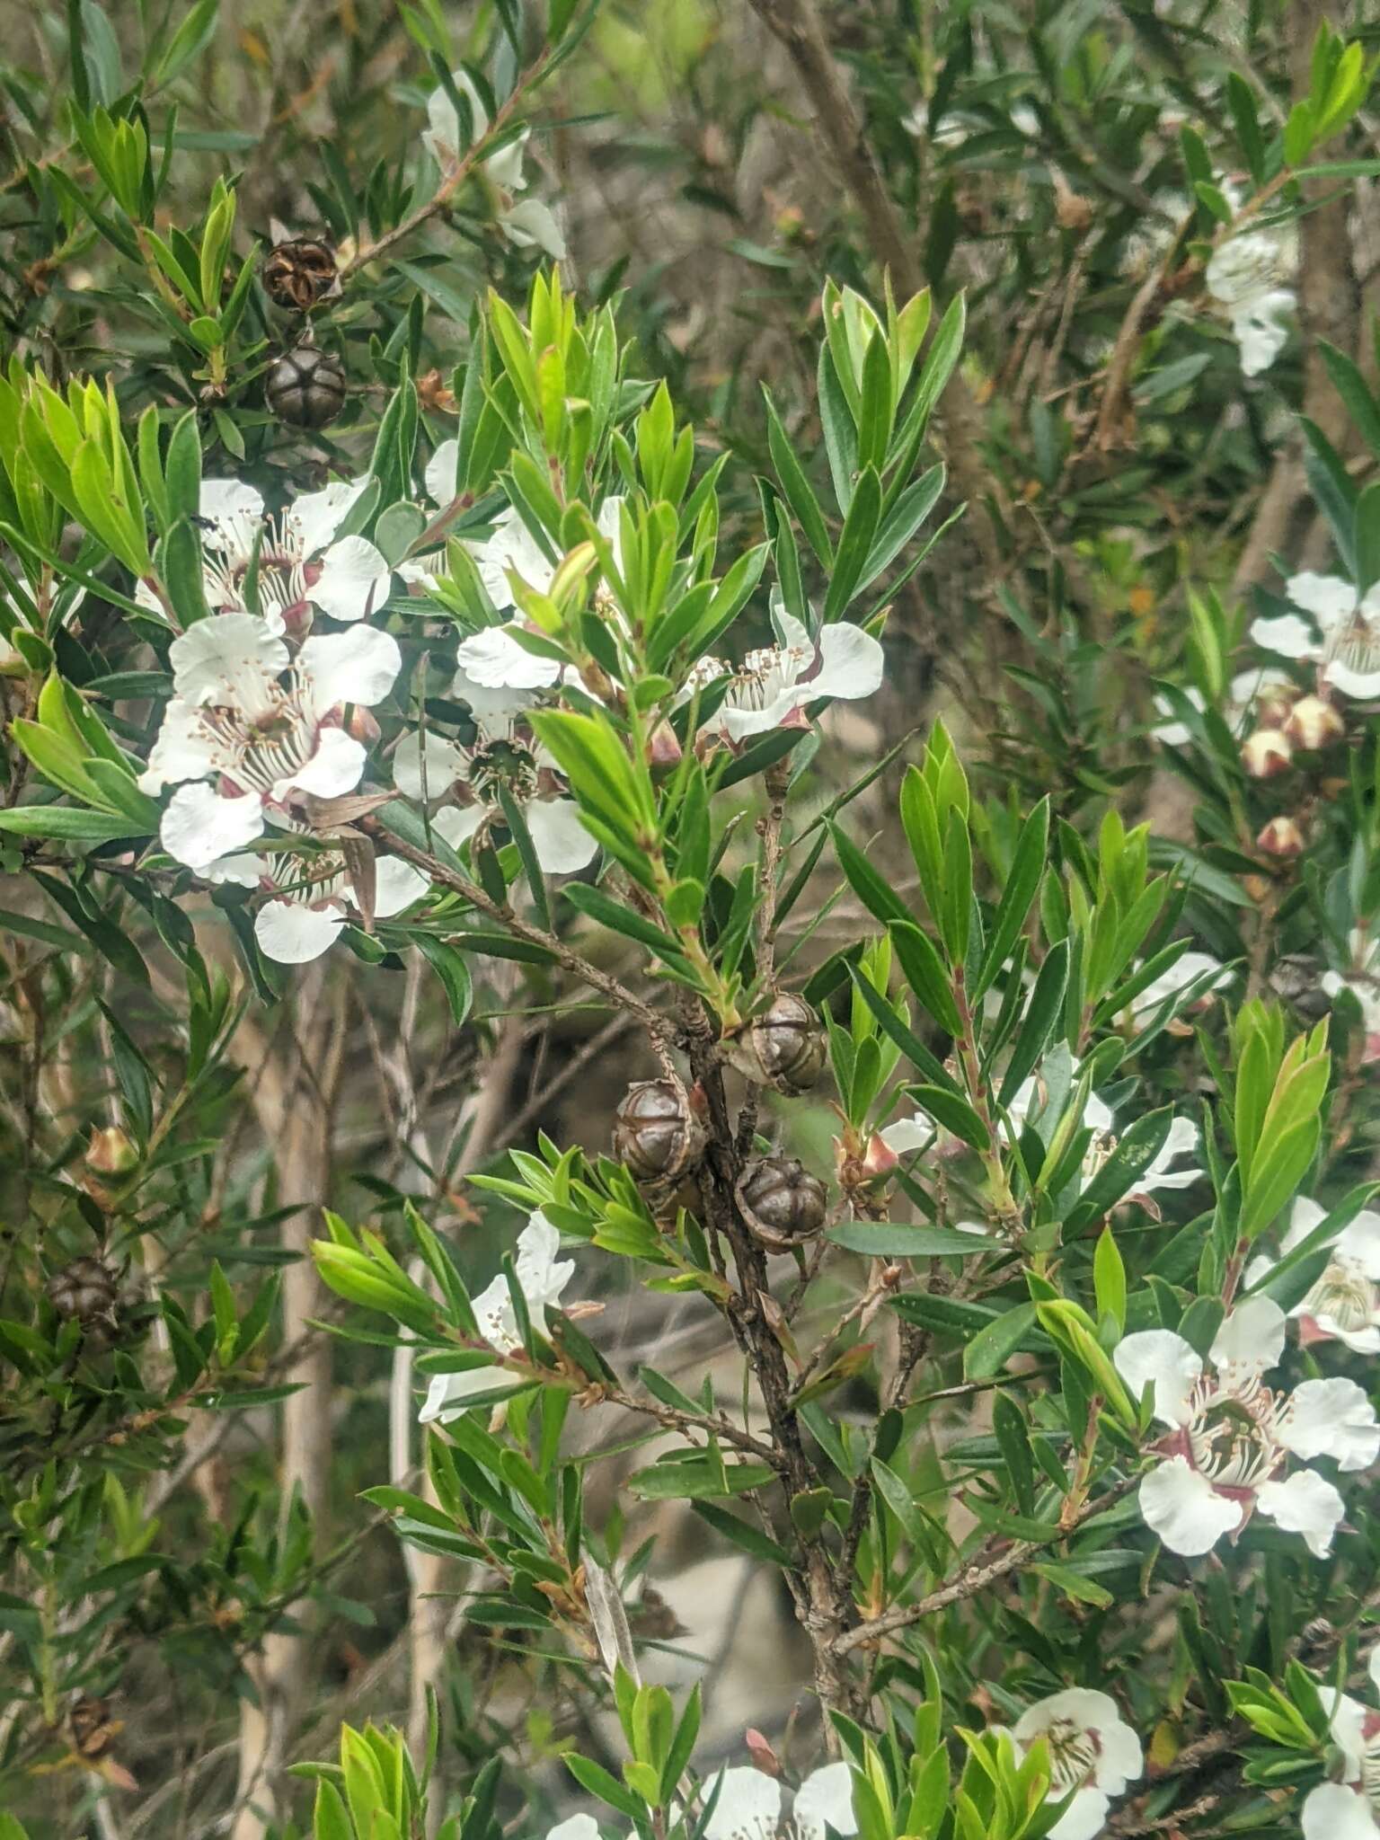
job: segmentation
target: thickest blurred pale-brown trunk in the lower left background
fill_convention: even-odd
[[[280,1466],[280,1531],[287,1533],[294,1500],[311,1516],[320,1549],[331,1483],[331,1352],[307,1323],[320,1316],[320,1286],[309,1246],[329,1194],[331,1126],[340,1078],[346,984],[326,981],[313,966],[285,1008],[278,1032],[265,1040],[245,1023],[236,1058],[245,1067],[248,1098],[274,1154],[278,1205],[293,1207],[282,1227],[283,1251],[294,1262],[283,1273],[283,1347],[291,1351],[283,1382],[300,1387],[283,1400]],[[300,1612],[294,1608],[294,1616]],[[239,1783],[232,1840],[263,1840],[280,1818],[280,1777],[287,1742],[305,1711],[311,1641],[296,1632],[270,1634],[247,1663],[258,1706],[245,1700],[239,1720]]]

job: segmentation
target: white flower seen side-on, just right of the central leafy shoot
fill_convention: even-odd
[[[834,620],[811,640],[793,615],[780,607],[775,613],[780,646],[749,651],[736,672],[721,659],[696,664],[681,703],[688,703],[697,686],[732,679],[719,708],[701,725],[701,736],[738,745],[771,729],[804,729],[811,703],[822,697],[852,701],[881,686],[885,657],[880,642],[861,626]]]

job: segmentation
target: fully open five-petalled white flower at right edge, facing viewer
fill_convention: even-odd
[[[1305,1380],[1292,1393],[1264,1384],[1284,1352],[1284,1312],[1248,1297],[1225,1317],[1211,1349],[1216,1369],[1168,1328],[1124,1336],[1115,1363],[1132,1393],[1154,1386],[1154,1415],[1168,1426],[1163,1457],[1141,1481],[1146,1525],[1174,1553],[1211,1551],[1238,1535],[1253,1509],[1284,1533],[1303,1535],[1319,1558],[1332,1549],[1343,1503],[1317,1470],[1284,1474],[1290,1457],[1336,1457],[1363,1470],[1380,1455],[1380,1426],[1352,1380]]]

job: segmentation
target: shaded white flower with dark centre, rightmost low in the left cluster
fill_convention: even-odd
[[[403,736],[394,753],[394,784],[407,799],[432,802],[456,791],[432,828],[458,850],[477,832],[504,824],[500,789],[521,808],[537,863],[552,876],[569,876],[594,859],[598,843],[580,821],[580,808],[558,793],[550,756],[521,719],[523,692],[486,692],[458,673],[453,696],[469,703],[475,721],[471,745],[427,730]]]

